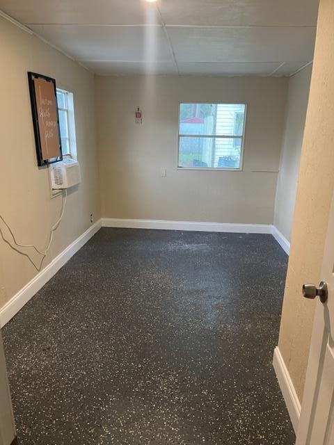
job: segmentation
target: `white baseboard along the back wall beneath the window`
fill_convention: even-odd
[[[102,227],[182,230],[184,232],[192,231],[272,234],[271,225],[266,224],[193,223],[191,221],[126,220],[117,218],[102,218]]]

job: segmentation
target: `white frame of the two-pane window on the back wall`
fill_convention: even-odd
[[[196,135],[196,134],[181,134],[180,133],[180,117],[181,117],[181,105],[182,104],[214,104],[214,105],[244,105],[245,106],[245,115],[244,115],[244,131],[242,136],[235,135]],[[244,149],[245,149],[245,135],[246,135],[246,120],[247,120],[247,104],[246,102],[180,102],[179,103],[179,111],[178,111],[178,120],[177,120],[177,133],[178,133],[178,145],[177,145],[177,170],[196,170],[196,171],[227,171],[227,172],[242,172],[244,169]],[[240,165],[239,168],[224,168],[224,167],[181,167],[179,165],[180,162],[180,139],[181,138],[225,138],[225,139],[241,139],[241,148],[240,148]]]

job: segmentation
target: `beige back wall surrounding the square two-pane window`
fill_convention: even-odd
[[[273,223],[287,83],[259,77],[97,77],[103,216]],[[248,104],[244,171],[177,170],[179,102]],[[143,125],[134,122],[136,106],[143,109]]]

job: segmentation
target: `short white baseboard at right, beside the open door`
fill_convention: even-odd
[[[273,369],[275,369],[278,384],[280,385],[285,405],[287,405],[287,411],[289,412],[292,426],[294,427],[294,431],[297,432],[299,418],[301,416],[301,403],[278,346],[273,353]]]

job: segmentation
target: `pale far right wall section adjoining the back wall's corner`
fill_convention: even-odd
[[[291,241],[311,74],[312,66],[310,65],[289,79],[285,136],[278,175],[274,218],[274,225],[288,241]]]

